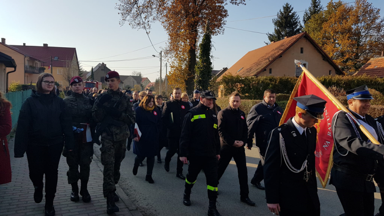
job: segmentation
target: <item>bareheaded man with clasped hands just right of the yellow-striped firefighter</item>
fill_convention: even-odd
[[[240,201],[255,206],[255,203],[248,197],[248,171],[244,148],[248,137],[248,127],[245,113],[240,110],[240,105],[240,94],[233,92],[229,95],[229,106],[218,114],[218,129],[222,146],[218,164],[218,180],[223,176],[233,157],[240,183]]]

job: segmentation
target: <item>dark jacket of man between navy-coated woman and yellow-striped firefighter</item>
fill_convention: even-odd
[[[184,116],[190,109],[190,105],[182,100],[171,100],[165,103],[161,120],[168,129],[168,138],[180,138]]]

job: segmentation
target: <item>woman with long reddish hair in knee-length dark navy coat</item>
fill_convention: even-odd
[[[153,184],[152,171],[155,156],[159,151],[159,135],[161,131],[161,112],[155,105],[155,97],[146,95],[135,109],[136,124],[141,132],[138,137],[136,129],[133,134],[133,153],[136,154],[133,175],[137,174],[139,164],[147,157],[147,176],[145,181]]]

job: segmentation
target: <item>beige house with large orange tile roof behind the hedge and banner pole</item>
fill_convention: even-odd
[[[294,63],[294,60],[300,60],[315,77],[345,74],[306,32],[302,32],[249,51],[217,81],[221,81],[223,76],[229,74],[241,77],[299,77],[302,69]]]

